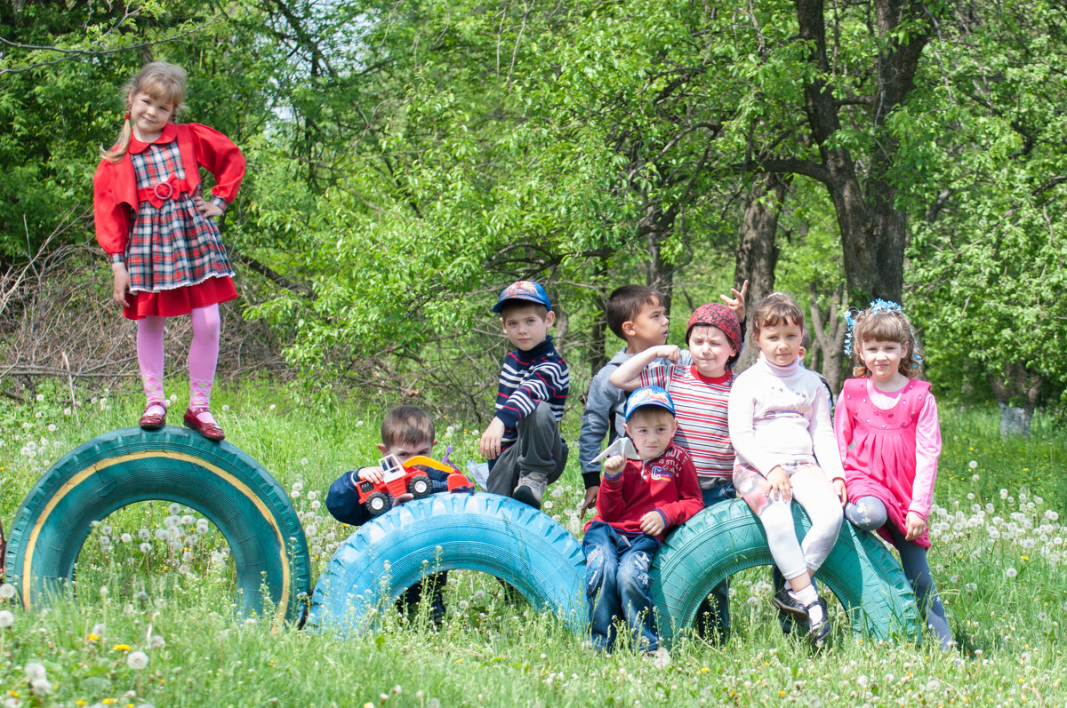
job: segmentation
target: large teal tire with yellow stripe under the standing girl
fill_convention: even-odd
[[[63,592],[94,521],[129,504],[175,501],[214,524],[237,570],[237,604],[300,622],[310,589],[307,540],[289,497],[256,461],[184,428],[116,430],[65,455],[15,514],[7,574],[25,607]]]

